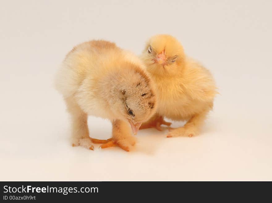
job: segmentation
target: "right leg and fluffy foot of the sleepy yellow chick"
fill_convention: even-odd
[[[210,109],[204,110],[203,112],[196,114],[191,117],[187,123],[180,128],[170,129],[167,137],[178,137],[178,136],[188,136],[193,137],[199,133],[201,126]]]

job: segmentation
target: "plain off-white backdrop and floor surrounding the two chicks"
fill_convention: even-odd
[[[137,2],[137,3],[136,3]],[[2,1],[0,180],[272,180],[271,1]],[[200,136],[140,131],[131,152],[71,147],[53,76],[80,42],[141,53],[176,36],[214,74],[214,111]],[[182,125],[175,123],[174,126]],[[89,118],[90,135],[111,125]]]

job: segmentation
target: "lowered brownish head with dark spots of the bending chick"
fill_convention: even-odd
[[[123,69],[118,84],[117,113],[122,120],[130,123],[133,133],[137,134],[142,122],[155,113],[156,97],[152,81],[142,69],[135,66]]]

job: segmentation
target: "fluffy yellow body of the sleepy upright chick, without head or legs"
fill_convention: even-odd
[[[213,78],[202,67],[193,71],[190,67],[181,76],[154,79],[158,95],[157,112],[173,120],[187,120],[201,112],[212,105],[216,94]]]

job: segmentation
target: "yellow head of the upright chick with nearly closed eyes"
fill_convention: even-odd
[[[151,37],[141,59],[147,70],[154,75],[175,75],[182,69],[185,54],[181,43],[171,35]]]

